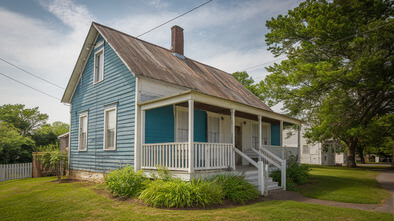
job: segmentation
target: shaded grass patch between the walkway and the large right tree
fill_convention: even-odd
[[[348,203],[379,204],[390,197],[379,188],[374,167],[346,168],[310,165],[308,183],[294,191],[308,197]]]

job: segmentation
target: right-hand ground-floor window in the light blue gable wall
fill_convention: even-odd
[[[104,150],[116,149],[116,107],[104,111]]]

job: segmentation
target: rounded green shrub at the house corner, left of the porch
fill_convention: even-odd
[[[112,171],[105,176],[105,186],[115,196],[137,197],[147,187],[149,179],[142,170],[134,172],[132,166]]]

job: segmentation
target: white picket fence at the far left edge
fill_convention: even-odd
[[[31,178],[33,163],[0,164],[0,181]]]

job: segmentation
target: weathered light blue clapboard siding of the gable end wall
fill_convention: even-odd
[[[104,39],[99,36],[96,43]],[[104,47],[104,80],[93,85],[94,53]],[[70,168],[108,172],[134,163],[135,77],[104,42],[90,54],[71,104]],[[104,109],[117,106],[116,150],[103,150]],[[88,112],[87,151],[78,151],[79,114]]]

